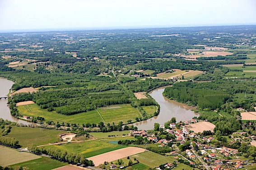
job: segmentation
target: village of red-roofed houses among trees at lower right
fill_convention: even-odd
[[[148,143],[154,143],[159,148],[173,148],[172,152],[165,153],[165,155],[174,158],[175,161],[159,166],[158,170],[172,169],[179,163],[207,170],[234,170],[251,165],[251,162],[243,157],[242,152],[239,152],[238,149],[219,146],[221,142],[219,140],[225,137],[217,138],[213,134],[213,129],[198,133],[191,130],[193,129],[191,126],[200,123],[210,124],[208,121],[191,119],[190,121],[170,123],[167,128],[160,125],[159,131],[130,130],[130,135],[142,136],[147,139]],[[161,139],[158,134],[162,130],[171,134],[174,139]],[[235,145],[236,142],[240,142],[253,145],[256,136],[241,131],[235,132],[227,138],[230,144]],[[179,147],[181,145],[186,145],[186,147]]]

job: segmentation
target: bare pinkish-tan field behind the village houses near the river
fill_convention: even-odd
[[[195,133],[202,133],[204,130],[210,130],[211,132],[213,132],[215,125],[210,123],[209,121],[200,121],[194,124],[190,124],[188,128],[189,130],[193,130]]]

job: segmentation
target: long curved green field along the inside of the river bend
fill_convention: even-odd
[[[97,110],[83,112],[75,115],[62,115],[55,111],[48,112],[46,109],[41,109],[37,104],[28,104],[18,107],[19,113],[23,116],[42,116],[46,121],[64,122],[64,123],[118,123],[120,121],[127,122],[129,119],[135,120],[140,117],[139,112],[130,104],[111,105],[111,107],[101,107]],[[103,120],[102,120],[103,118]]]

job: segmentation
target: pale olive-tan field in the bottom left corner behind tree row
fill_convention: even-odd
[[[40,156],[28,152],[19,152],[0,145],[0,166],[9,166],[24,161],[38,159]]]

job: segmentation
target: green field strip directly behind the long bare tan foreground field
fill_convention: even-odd
[[[62,151],[71,153],[81,153],[85,157],[93,157],[102,153],[114,151],[116,149],[126,148],[125,145],[118,145],[114,143],[108,143],[110,141],[118,141],[124,139],[134,139],[132,136],[127,137],[114,137],[105,139],[90,140],[81,143],[65,143],[62,145],[46,146],[47,148],[58,148]]]

